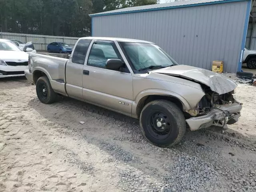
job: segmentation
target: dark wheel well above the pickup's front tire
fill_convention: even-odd
[[[163,95],[149,95],[149,96],[144,96],[143,98],[140,99],[140,101],[138,102],[137,108],[136,108],[136,114],[138,117],[140,117],[140,113],[143,109],[143,107],[148,104],[151,101],[154,100],[168,100],[171,101],[173,103],[175,103],[182,111],[183,111],[183,105],[182,102],[180,102],[180,100],[178,100],[175,97],[172,96],[163,96]]]

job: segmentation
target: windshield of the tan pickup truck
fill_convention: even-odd
[[[162,68],[176,62],[155,44],[120,42],[135,70]]]

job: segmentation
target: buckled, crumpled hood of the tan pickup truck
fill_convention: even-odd
[[[237,87],[237,84],[234,81],[222,76],[221,74],[188,65],[176,65],[151,72],[182,77],[187,80],[200,82],[209,86],[212,91],[218,94],[228,93]]]

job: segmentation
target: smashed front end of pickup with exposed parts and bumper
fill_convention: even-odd
[[[204,88],[206,93],[197,107],[192,110],[186,110],[191,118],[186,119],[190,130],[207,128],[212,125],[227,128],[227,124],[234,124],[240,117],[242,103],[236,101],[233,97],[235,90],[218,94],[209,87]]]

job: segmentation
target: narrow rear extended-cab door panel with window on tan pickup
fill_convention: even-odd
[[[77,42],[75,50],[66,64],[66,92],[68,96],[79,100],[83,98],[83,67],[90,39],[81,39]]]

